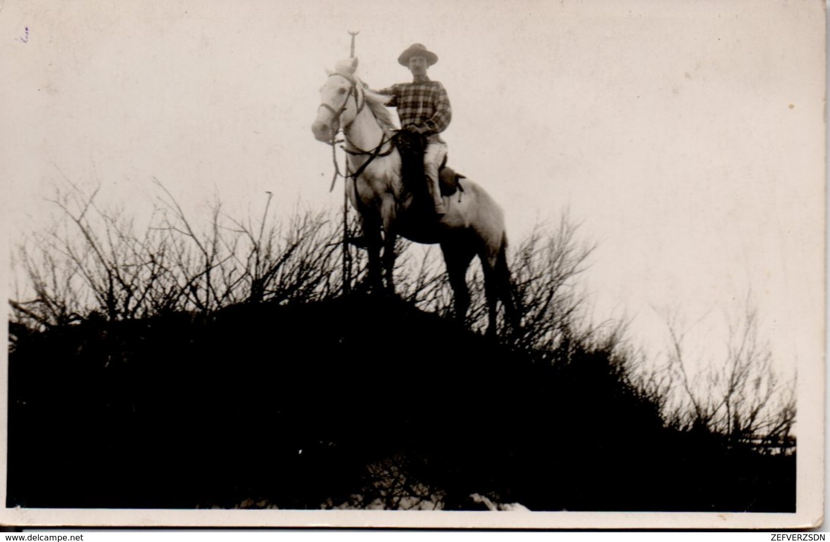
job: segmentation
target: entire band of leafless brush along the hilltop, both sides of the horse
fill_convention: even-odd
[[[359,231],[354,213],[334,220],[323,212],[272,216],[266,193],[256,219],[235,219],[215,202],[206,219],[192,220],[159,182],[149,227],[139,229],[123,209],[105,210],[100,190],[69,183],[51,202],[61,218],[17,246],[13,265],[22,273],[12,306],[14,336],[90,318],[129,320],[172,312],[210,314],[238,303],[310,302],[348,293],[366,278],[366,253],[350,246]],[[345,211],[345,210],[344,210]],[[671,349],[663,365],[648,365],[627,341],[621,322],[593,325],[579,275],[595,248],[580,243],[579,226],[564,215],[554,229],[536,227],[508,253],[519,329],[500,340],[542,364],[579,363],[599,353],[620,385],[643,404],[656,405],[669,428],[704,430],[730,445],[775,452],[792,447],[794,382],[781,382],[769,345],[748,310],[730,329],[723,363],[693,375],[686,337],[670,324]],[[449,317],[453,293],[440,249],[401,254],[397,291],[423,310]],[[344,252],[345,250],[345,252]],[[346,258],[344,259],[344,256]],[[486,327],[481,265],[468,271],[467,325]]]

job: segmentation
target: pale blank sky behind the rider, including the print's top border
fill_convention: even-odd
[[[376,89],[409,80],[396,59],[413,42],[437,53],[450,161],[505,208],[511,240],[568,209],[598,242],[583,283],[598,320],[632,317],[655,349],[673,312],[711,353],[751,292],[779,363],[818,363],[822,7],[4,2],[7,231],[41,224],[64,177],[137,214],[154,177],[194,212],[216,195],[258,213],[266,191],[280,212],[339,206],[310,124],[360,31]]]

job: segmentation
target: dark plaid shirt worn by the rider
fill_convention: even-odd
[[[398,83],[378,92],[392,97],[387,105],[398,108],[401,128],[414,124],[425,135],[432,135],[443,132],[452,119],[447,90],[428,77],[413,83]]]

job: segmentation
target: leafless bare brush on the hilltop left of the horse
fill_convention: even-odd
[[[214,203],[191,220],[169,191],[139,232],[123,209],[104,210],[100,189],[71,185],[51,202],[61,218],[17,246],[27,278],[12,300],[17,323],[42,328],[86,317],[125,320],[180,311],[210,313],[238,302],[310,301],[338,294],[342,232],[322,212],[236,220]],[[364,269],[354,256],[354,276]]]

